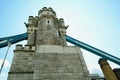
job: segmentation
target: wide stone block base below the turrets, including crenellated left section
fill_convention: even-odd
[[[8,80],[90,80],[88,76],[80,48],[38,45],[36,50],[15,50]]]

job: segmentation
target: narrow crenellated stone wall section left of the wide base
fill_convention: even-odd
[[[33,80],[33,54],[34,46],[17,45],[8,80]]]

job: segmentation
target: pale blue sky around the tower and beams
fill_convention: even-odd
[[[24,22],[43,7],[52,7],[69,25],[67,35],[120,58],[120,0],[0,0],[0,38],[26,32]],[[26,44],[22,41],[17,44]],[[9,49],[0,80],[7,80],[15,45]],[[7,47],[0,49],[0,65]],[[82,49],[90,73],[103,76],[100,57]],[[109,61],[108,61],[109,62]],[[112,68],[118,65],[109,62]]]

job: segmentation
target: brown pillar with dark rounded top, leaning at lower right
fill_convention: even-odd
[[[118,80],[107,60],[100,58],[99,64],[106,80]]]

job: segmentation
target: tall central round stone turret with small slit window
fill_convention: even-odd
[[[61,33],[65,34],[56,13],[52,8],[44,7],[38,13],[37,45],[66,45]],[[63,32],[61,32],[61,30]]]

